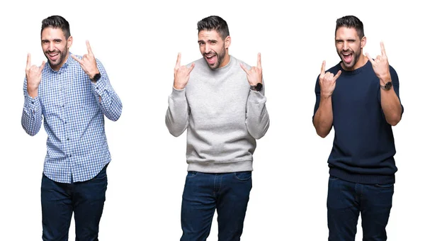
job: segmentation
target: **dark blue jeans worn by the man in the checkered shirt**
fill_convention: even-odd
[[[108,186],[106,167],[93,179],[73,184],[52,181],[42,175],[42,240],[68,240],[72,212],[75,220],[75,240],[98,240],[99,222]]]

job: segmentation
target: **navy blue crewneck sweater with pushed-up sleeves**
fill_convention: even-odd
[[[327,71],[336,74],[339,70],[342,73],[331,96],[335,135],[329,174],[361,184],[393,184],[397,172],[395,144],[392,126],[380,106],[379,79],[369,61],[353,71],[342,69],[341,62]],[[397,72],[391,66],[390,74],[399,96]],[[314,113],[320,102],[318,77],[315,92]]]

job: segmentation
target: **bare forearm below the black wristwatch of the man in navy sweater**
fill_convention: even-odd
[[[394,88],[389,91],[380,89],[381,108],[385,115],[385,120],[390,125],[397,125],[402,118],[402,105],[395,94]]]

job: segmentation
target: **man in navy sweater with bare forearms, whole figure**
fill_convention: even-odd
[[[387,240],[385,227],[394,194],[392,125],[402,118],[397,72],[381,53],[363,55],[363,23],[355,16],[336,21],[341,57],[317,77],[313,124],[325,138],[334,127],[327,196],[329,240],[354,240],[361,213],[363,240]]]

